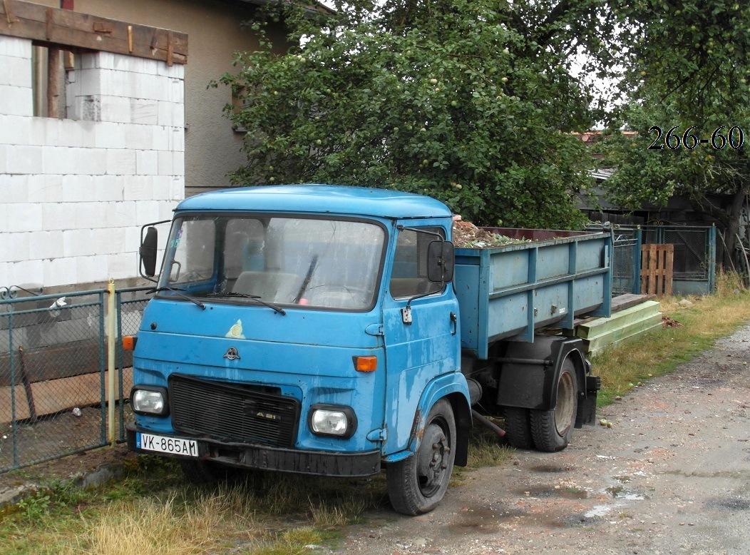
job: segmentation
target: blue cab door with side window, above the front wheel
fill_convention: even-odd
[[[431,283],[427,274],[428,245],[438,239],[434,233],[444,237],[445,230],[426,222],[408,226],[394,230],[395,254],[383,297],[386,455],[408,446],[425,386],[460,371],[458,301],[452,284]]]

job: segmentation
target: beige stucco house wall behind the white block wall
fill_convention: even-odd
[[[58,0],[37,0],[59,7]],[[74,0],[78,12],[187,33],[185,66],[186,195],[206,187],[227,187],[228,172],[245,163],[242,133],[223,117],[231,101],[225,86],[206,89],[211,80],[231,71],[233,52],[257,49],[252,31],[242,27],[255,7],[220,0]],[[279,42],[282,35],[278,34]]]

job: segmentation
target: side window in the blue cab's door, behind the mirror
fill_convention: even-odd
[[[425,231],[440,233],[440,228],[429,227]],[[435,240],[429,233],[417,233],[412,229],[401,229],[396,239],[396,253],[389,282],[389,291],[394,299],[431,293],[440,293],[440,284],[431,283],[427,277],[428,245]]]

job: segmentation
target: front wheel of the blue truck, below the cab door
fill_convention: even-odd
[[[393,508],[415,515],[437,507],[448,489],[455,455],[455,416],[451,404],[440,399],[428,414],[417,452],[386,470]]]

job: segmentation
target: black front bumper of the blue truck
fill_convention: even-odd
[[[139,449],[136,447],[136,434],[139,432],[153,434],[154,432],[138,428],[133,422],[129,422],[125,428],[127,448],[131,451],[148,455],[185,458],[179,455]],[[371,476],[380,472],[380,450],[378,449],[361,453],[302,451],[300,449],[282,449],[245,443],[226,443],[208,440],[205,437],[162,434],[160,432],[158,435],[182,440],[196,440],[198,443],[198,459],[213,460],[238,468],[350,478]]]

